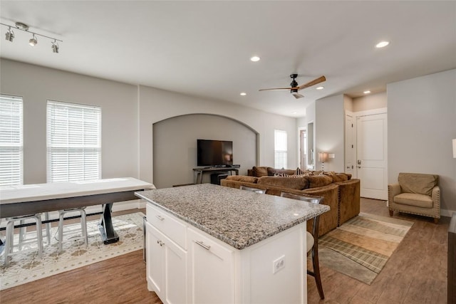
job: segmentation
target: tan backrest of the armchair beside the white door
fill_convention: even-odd
[[[398,182],[402,192],[431,195],[439,176],[435,174],[399,173]]]

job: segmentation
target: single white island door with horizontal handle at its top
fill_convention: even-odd
[[[188,229],[192,303],[234,303],[234,249]]]

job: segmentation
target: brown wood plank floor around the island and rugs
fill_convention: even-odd
[[[361,211],[388,216],[384,201],[361,199]],[[143,211],[145,212],[145,211]],[[414,221],[372,285],[321,266],[325,300],[308,276],[309,303],[447,303],[450,218],[394,214]],[[147,290],[142,251],[0,291],[0,303],[161,303]]]

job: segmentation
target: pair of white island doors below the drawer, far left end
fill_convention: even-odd
[[[147,282],[163,303],[187,303],[187,252],[147,222]]]

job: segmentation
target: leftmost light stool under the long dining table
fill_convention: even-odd
[[[24,224],[27,219],[33,219],[36,222],[36,238],[25,239],[25,227],[19,229],[19,243],[14,245],[14,223],[19,221],[19,224]],[[47,232],[49,240],[51,235]],[[13,248],[17,246],[19,250],[22,249],[22,245],[25,242],[36,240],[38,243],[38,257],[41,258],[43,254],[43,232],[41,228],[41,213],[28,214],[26,216],[13,216],[6,218],[6,240],[5,240],[5,266],[9,266],[9,256],[13,254]]]

